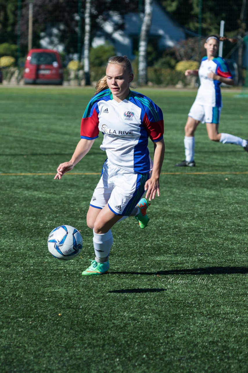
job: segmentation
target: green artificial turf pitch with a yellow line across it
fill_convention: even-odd
[[[223,91],[220,131],[248,138],[247,98]],[[83,277],[94,258],[86,213],[101,137],[71,174],[53,177],[94,90],[0,88],[3,373],[247,372],[248,154],[210,142],[199,125],[197,166],[175,168],[196,91],[142,92],[164,112],[161,197],[148,228],[133,218],[112,228],[109,273]],[[46,246],[61,224],[83,236],[71,261]]]

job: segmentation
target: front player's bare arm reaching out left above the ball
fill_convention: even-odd
[[[70,161],[59,164],[54,179],[60,180],[65,172],[72,170],[75,164],[77,164],[90,151],[93,142],[94,140],[81,139],[78,142]]]

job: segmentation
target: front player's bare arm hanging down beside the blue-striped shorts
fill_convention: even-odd
[[[151,178],[145,183],[146,195],[145,198],[154,200],[157,193],[160,196],[159,191],[159,176],[162,169],[162,164],[164,161],[164,140],[154,142],[154,159],[153,159],[153,169]]]

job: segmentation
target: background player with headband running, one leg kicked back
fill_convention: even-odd
[[[219,117],[222,108],[220,84],[233,85],[233,79],[228,66],[222,57],[216,57],[219,40],[227,38],[212,35],[204,43],[207,56],[203,57],[199,70],[186,70],[185,75],[199,75],[200,87],[196,99],[191,106],[186,126],[184,128],[185,160],[175,166],[194,167],[194,132],[200,122],[206,122],[207,135],[210,140],[223,144],[236,144],[248,151],[247,140],[231,134],[219,133]]]

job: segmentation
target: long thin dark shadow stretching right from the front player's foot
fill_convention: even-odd
[[[233,275],[235,273],[248,273],[247,267],[206,267],[190,269],[171,269],[157,272],[109,272],[110,275]]]

